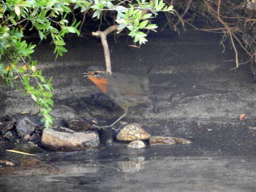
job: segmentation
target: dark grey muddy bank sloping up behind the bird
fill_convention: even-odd
[[[110,37],[113,71],[143,76],[155,63],[149,75],[149,100],[131,108],[124,121],[140,123],[150,134],[188,137],[203,145],[207,143],[204,140],[218,145],[229,142],[229,138],[236,138],[236,143],[242,132],[248,139],[241,145],[248,144],[254,154],[254,131],[247,128],[254,124],[255,85],[249,66],[230,70],[234,62],[229,60],[234,54],[228,47],[222,53],[220,38],[196,31],[181,36],[165,32],[151,35],[146,45],[135,49],[128,46],[132,43],[129,39],[115,43]],[[46,78],[54,77],[55,107],[51,114],[57,118],[55,123],[74,117],[97,121],[99,125],[114,122],[122,109],[81,75],[89,66],[104,66],[101,43],[95,39],[69,39],[69,52],[58,60],[54,60],[52,49],[43,42],[34,57]],[[21,98],[19,92],[4,89],[1,94],[0,116],[33,110],[30,99]],[[246,114],[245,121],[238,119],[242,113]],[[121,126],[117,124],[116,128]],[[220,140],[224,135],[225,142]],[[230,147],[236,148],[233,145]]]

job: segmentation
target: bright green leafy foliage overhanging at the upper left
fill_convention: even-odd
[[[155,30],[157,26],[150,24],[149,19],[157,15],[159,11],[173,11],[172,6],[166,6],[163,0],[149,1],[137,0],[131,4],[124,0],[117,4],[116,1],[108,0],[6,0],[0,1],[0,76],[3,85],[14,86],[15,81],[21,81],[23,94],[30,94],[37,103],[38,109],[43,115],[43,122],[49,127],[53,122],[53,117],[49,114],[54,102],[51,99],[53,87],[52,78],[45,79],[42,71],[37,70],[37,61],[31,58],[36,45],[28,43],[23,38],[23,31],[37,31],[41,40],[51,38],[55,45],[54,53],[56,58],[62,56],[65,49],[63,37],[67,33],[80,35],[77,27],[81,21],[76,19],[71,22],[68,15],[80,9],[81,12],[92,9],[92,17],[101,17],[102,11],[115,11],[116,22],[119,27],[129,29],[129,35],[134,38],[134,42],[140,44],[147,42],[147,34],[141,30]],[[74,9],[71,10],[71,4]],[[143,11],[145,11],[143,14]]]

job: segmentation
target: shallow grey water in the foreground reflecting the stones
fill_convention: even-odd
[[[112,157],[106,157],[101,150]],[[256,188],[256,156],[172,156],[172,147],[129,149],[123,155],[122,151],[116,153],[119,155],[111,154],[113,147],[98,152],[43,155],[44,162],[62,173],[0,178],[0,191],[255,191]]]

